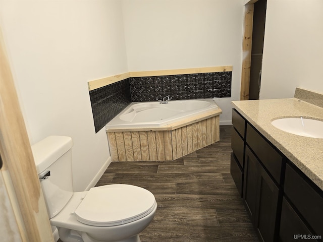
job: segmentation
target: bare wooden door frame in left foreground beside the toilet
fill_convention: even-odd
[[[54,241],[0,26],[0,155],[22,241]]]

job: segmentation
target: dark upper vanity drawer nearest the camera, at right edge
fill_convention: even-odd
[[[323,235],[323,192],[307,180],[301,171],[286,164],[284,193],[315,233]]]

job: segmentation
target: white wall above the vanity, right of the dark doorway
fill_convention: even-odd
[[[322,43],[323,1],[267,0],[260,98],[323,93]]]

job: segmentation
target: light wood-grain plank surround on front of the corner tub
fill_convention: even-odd
[[[222,110],[158,128],[106,130],[113,161],[175,160],[220,140]]]

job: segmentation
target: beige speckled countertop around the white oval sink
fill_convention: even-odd
[[[288,159],[323,190],[323,139],[290,134],[271,122],[282,117],[323,120],[323,108],[297,99],[233,101],[233,106]]]

